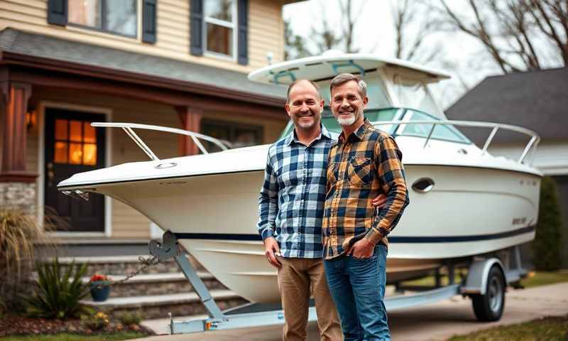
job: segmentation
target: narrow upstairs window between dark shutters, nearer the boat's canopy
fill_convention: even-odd
[[[236,0],[204,1],[204,42],[209,53],[234,56]]]

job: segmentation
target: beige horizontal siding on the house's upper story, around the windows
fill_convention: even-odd
[[[189,0],[160,0],[156,16],[158,33],[155,44],[142,43],[141,0],[138,0],[138,38],[76,26],[50,25],[47,21],[48,0],[1,0],[0,29],[15,28],[108,48],[156,55],[239,72],[249,72],[266,65],[266,53],[273,61],[283,60],[283,18],[280,0],[249,0],[249,65],[211,56],[190,55]]]

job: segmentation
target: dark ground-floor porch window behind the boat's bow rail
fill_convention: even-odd
[[[232,148],[262,144],[263,127],[227,121],[202,119],[201,133],[216,139],[229,141]],[[207,142],[207,141],[204,141]],[[214,144],[204,144],[208,151],[217,151]]]

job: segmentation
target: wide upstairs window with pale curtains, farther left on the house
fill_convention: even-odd
[[[136,37],[138,0],[69,0],[69,23]]]

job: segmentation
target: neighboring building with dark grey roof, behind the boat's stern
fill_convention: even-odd
[[[534,166],[558,185],[564,226],[563,266],[568,266],[568,67],[487,77],[447,109],[449,119],[491,121],[531,129],[542,139]],[[467,134],[485,141],[489,134]],[[498,133],[489,151],[518,158],[528,138]]]

